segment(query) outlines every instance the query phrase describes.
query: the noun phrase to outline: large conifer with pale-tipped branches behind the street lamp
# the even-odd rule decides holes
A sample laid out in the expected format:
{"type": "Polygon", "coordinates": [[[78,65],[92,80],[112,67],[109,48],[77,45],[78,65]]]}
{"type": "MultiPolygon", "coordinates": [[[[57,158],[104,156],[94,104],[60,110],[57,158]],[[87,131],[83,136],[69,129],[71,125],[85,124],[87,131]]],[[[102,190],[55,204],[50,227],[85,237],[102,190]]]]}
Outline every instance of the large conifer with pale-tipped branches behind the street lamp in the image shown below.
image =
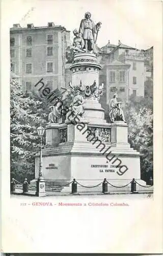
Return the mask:
{"type": "Polygon", "coordinates": [[[31,94],[24,94],[20,84],[10,82],[10,138],[11,177],[19,181],[29,180],[35,174],[35,153],[39,148],[37,127],[47,122],[43,102],[31,94]]]}

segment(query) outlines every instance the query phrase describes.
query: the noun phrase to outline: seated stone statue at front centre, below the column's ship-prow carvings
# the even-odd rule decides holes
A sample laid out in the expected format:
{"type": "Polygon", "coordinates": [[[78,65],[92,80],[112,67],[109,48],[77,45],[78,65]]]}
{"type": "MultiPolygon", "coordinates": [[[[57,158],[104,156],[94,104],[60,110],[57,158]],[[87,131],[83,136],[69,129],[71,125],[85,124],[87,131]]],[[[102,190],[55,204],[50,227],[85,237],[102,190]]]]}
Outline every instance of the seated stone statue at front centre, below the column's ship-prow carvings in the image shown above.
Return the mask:
{"type": "Polygon", "coordinates": [[[74,96],[73,102],[70,105],[73,116],[82,116],[84,114],[83,104],[84,104],[83,96],[80,95],[80,91],[77,90],[76,96],[74,96]]]}

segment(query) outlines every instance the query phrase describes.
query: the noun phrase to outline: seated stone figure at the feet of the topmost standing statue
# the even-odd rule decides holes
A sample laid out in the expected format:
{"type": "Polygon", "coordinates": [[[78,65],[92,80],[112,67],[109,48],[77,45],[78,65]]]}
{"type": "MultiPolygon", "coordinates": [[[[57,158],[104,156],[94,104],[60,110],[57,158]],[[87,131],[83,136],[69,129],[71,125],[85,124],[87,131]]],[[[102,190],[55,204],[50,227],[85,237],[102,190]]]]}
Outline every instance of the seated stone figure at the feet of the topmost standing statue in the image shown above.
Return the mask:
{"type": "Polygon", "coordinates": [[[73,52],[78,53],[78,52],[85,52],[86,50],[83,49],[85,45],[85,41],[82,37],[82,33],[78,33],[76,29],[73,31],[74,38],[73,38],[73,52]]]}

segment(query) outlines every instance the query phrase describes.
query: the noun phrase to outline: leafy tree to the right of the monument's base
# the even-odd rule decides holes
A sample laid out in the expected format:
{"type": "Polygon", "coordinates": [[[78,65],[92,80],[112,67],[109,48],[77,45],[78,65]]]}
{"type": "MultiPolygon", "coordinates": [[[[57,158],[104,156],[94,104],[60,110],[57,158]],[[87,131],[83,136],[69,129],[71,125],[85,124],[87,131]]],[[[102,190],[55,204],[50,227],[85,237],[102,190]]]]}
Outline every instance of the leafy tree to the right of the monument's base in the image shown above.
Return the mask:
{"type": "Polygon", "coordinates": [[[146,107],[127,111],[128,140],[141,156],[141,179],[153,178],[153,114],[146,107]]]}

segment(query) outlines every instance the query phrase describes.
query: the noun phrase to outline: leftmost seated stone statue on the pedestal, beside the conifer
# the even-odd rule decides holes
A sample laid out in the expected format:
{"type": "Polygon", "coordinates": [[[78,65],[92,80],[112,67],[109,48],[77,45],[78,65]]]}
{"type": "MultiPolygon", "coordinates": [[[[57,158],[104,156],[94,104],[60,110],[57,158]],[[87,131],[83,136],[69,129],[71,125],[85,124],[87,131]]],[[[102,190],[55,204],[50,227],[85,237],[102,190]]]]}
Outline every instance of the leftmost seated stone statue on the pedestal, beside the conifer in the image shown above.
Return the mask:
{"type": "Polygon", "coordinates": [[[51,111],[48,115],[49,123],[62,123],[62,102],[59,98],[58,100],[56,105],[49,107],[51,111]]]}

